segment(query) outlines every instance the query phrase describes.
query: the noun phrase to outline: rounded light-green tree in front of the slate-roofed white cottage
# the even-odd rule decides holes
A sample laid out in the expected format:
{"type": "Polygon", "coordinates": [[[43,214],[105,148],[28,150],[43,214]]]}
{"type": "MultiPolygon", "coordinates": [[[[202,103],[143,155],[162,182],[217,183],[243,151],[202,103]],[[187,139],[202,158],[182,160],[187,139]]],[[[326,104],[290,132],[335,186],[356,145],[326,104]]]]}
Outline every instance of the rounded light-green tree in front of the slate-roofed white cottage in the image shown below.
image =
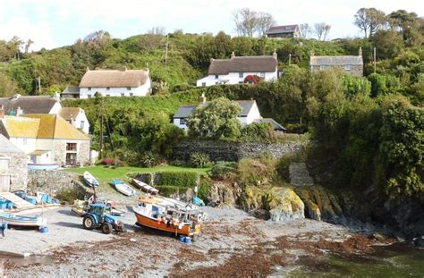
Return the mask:
{"type": "Polygon", "coordinates": [[[187,120],[189,134],[212,139],[237,138],[242,130],[237,118],[241,112],[240,105],[225,97],[199,105],[187,120]]]}

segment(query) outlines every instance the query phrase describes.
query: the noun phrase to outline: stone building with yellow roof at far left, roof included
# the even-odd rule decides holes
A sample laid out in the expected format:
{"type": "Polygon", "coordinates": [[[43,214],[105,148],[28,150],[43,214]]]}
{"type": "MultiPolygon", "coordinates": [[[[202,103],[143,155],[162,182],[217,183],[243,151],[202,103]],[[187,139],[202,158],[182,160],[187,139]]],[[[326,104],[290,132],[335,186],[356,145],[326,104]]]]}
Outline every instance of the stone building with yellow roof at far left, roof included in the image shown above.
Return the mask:
{"type": "Polygon", "coordinates": [[[30,169],[89,164],[90,139],[56,114],[0,117],[0,133],[28,156],[30,169]]]}

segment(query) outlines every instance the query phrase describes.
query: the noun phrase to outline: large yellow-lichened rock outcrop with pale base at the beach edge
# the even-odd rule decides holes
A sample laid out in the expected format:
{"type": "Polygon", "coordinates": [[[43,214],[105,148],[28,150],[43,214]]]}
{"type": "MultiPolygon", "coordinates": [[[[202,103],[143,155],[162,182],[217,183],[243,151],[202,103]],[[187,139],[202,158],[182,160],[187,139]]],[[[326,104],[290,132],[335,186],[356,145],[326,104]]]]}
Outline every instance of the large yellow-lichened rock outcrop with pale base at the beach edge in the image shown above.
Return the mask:
{"type": "Polygon", "coordinates": [[[244,192],[242,203],[247,211],[266,209],[275,222],[305,218],[305,206],[290,188],[250,186],[244,192]]]}

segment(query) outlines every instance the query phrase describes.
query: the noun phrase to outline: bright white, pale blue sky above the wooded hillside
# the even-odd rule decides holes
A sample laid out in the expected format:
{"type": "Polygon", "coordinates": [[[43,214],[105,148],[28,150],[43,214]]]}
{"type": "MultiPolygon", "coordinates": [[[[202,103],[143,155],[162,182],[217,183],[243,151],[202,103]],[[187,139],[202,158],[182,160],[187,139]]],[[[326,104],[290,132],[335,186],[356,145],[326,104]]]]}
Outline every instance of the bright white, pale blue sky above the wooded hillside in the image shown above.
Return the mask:
{"type": "Polygon", "coordinates": [[[96,30],[128,38],[153,27],[186,33],[220,30],[236,35],[233,11],[249,7],[271,13],[279,25],[326,22],[329,39],[361,36],[353,15],[361,7],[385,13],[403,9],[423,15],[422,0],[0,0],[0,39],[14,35],[35,43],[31,50],[72,45],[96,30]]]}

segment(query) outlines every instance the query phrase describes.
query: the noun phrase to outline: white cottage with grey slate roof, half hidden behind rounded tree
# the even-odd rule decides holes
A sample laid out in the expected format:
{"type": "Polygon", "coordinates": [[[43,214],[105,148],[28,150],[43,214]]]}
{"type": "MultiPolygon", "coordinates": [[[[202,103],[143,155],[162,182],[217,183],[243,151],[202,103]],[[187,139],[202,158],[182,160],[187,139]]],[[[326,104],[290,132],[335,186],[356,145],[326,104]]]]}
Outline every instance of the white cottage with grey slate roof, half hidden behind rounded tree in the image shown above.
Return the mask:
{"type": "MultiPolygon", "coordinates": [[[[258,105],[256,104],[256,100],[233,100],[234,103],[240,105],[242,107],[242,112],[238,115],[239,121],[242,123],[242,126],[246,126],[252,122],[268,122],[274,126],[274,130],[276,131],[286,131],[283,126],[281,126],[278,122],[274,121],[270,118],[262,118],[259,112],[258,105]]],[[[208,105],[206,102],[206,97],[202,96],[199,105],[208,105]]],[[[173,123],[180,129],[184,131],[188,131],[187,127],[187,119],[190,117],[191,113],[199,105],[184,105],[181,106],[178,111],[174,114],[173,123]]]]}

